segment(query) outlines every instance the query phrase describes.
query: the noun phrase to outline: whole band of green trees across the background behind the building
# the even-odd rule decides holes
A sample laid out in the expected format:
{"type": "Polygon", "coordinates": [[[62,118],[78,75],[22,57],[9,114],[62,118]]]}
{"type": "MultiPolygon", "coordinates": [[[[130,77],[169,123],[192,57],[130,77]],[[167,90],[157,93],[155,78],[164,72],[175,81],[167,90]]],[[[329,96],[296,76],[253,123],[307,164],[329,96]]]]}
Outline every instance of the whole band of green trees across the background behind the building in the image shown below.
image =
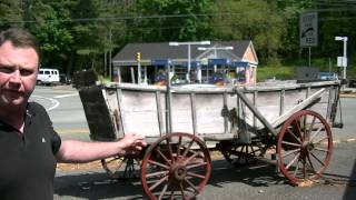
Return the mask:
{"type": "Polygon", "coordinates": [[[102,74],[108,58],[129,42],[253,40],[265,66],[258,74],[281,79],[308,66],[308,49],[299,47],[299,14],[310,10],[319,17],[312,66],[327,70],[330,58],[332,69],[340,71],[335,62],[343,42],[334,37],[347,36],[347,74],[356,78],[356,3],[346,0],[1,0],[0,29],[24,27],[36,34],[42,64],[67,72],[96,68],[102,74]]]}

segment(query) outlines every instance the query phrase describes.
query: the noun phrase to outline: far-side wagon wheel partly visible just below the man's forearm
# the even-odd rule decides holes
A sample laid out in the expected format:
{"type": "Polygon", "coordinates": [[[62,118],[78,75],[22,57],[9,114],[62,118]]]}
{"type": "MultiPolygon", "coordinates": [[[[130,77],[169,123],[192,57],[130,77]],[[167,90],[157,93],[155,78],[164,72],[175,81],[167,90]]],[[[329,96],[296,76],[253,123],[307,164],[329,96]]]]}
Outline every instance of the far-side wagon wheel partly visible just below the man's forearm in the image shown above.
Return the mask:
{"type": "Polygon", "coordinates": [[[137,171],[139,170],[140,160],[138,158],[112,157],[102,159],[101,164],[107,174],[112,179],[139,178],[137,171]]]}

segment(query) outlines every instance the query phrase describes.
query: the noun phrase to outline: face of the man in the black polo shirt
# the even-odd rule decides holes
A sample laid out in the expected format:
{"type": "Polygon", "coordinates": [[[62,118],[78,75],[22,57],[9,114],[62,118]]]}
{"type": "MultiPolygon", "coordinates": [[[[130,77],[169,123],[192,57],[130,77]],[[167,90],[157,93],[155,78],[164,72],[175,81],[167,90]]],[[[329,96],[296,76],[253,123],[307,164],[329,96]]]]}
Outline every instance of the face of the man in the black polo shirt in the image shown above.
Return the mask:
{"type": "Polygon", "coordinates": [[[10,41],[0,47],[0,109],[24,108],[36,86],[38,62],[32,48],[16,48],[10,41]]]}

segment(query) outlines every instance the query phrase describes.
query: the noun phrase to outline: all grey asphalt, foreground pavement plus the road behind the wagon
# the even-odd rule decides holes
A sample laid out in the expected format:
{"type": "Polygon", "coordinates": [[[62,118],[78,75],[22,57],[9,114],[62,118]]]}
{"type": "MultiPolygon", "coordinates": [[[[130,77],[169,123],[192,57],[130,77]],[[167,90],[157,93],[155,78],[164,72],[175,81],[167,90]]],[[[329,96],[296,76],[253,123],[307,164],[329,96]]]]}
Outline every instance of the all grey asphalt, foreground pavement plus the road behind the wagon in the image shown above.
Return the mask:
{"type": "MultiPolygon", "coordinates": [[[[38,87],[32,100],[49,110],[55,129],[63,139],[89,140],[76,90],[38,87]]],[[[345,127],[333,129],[334,154],[319,183],[310,188],[296,188],[285,182],[274,164],[260,161],[250,168],[236,169],[225,160],[215,160],[211,178],[197,199],[356,199],[356,99],[343,98],[342,108],[345,127]]],[[[139,180],[111,180],[102,169],[58,171],[55,193],[56,200],[145,199],[139,180]]]]}

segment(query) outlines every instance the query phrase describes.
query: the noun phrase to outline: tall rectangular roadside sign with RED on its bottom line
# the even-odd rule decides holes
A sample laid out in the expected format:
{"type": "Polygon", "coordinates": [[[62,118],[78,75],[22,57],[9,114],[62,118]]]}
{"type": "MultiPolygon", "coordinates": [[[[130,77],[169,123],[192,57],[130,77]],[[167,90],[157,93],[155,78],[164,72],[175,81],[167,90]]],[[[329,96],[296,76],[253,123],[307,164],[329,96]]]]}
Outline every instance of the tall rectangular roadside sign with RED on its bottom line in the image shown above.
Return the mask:
{"type": "Polygon", "coordinates": [[[318,46],[318,13],[305,12],[299,18],[300,47],[318,46]]]}

